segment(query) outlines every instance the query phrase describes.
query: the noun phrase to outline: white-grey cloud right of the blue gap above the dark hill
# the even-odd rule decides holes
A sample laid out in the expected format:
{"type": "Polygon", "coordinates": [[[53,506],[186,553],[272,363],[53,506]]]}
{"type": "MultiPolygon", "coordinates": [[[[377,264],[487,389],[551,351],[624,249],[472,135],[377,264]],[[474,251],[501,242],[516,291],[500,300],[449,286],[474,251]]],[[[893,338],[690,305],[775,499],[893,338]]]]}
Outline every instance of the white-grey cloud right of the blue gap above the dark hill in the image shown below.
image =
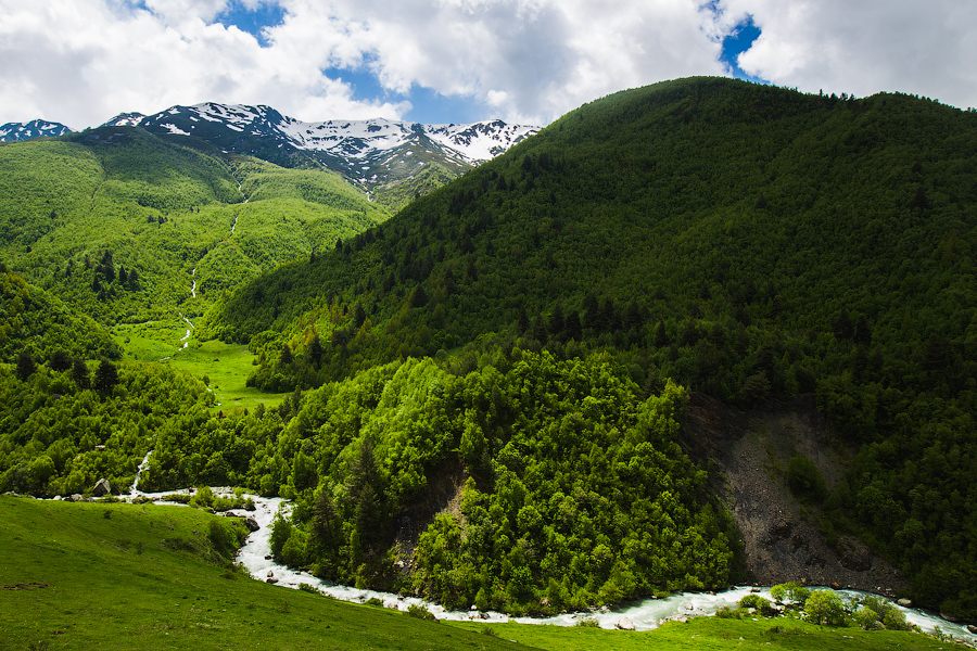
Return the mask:
{"type": "Polygon", "coordinates": [[[977,105],[977,3],[957,0],[723,0],[762,29],[739,58],[750,74],[800,90],[902,91],[977,105]]]}

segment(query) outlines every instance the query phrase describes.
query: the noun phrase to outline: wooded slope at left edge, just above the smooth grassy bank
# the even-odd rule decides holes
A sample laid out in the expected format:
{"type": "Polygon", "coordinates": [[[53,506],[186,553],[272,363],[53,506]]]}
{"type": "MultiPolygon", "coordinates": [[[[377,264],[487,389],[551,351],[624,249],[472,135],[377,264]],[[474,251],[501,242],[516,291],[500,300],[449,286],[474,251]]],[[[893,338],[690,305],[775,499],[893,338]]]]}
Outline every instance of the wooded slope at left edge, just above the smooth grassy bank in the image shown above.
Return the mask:
{"type": "Polygon", "coordinates": [[[0,493],[88,494],[103,477],[127,492],[156,432],[214,403],[187,373],[59,352],[29,373],[0,367],[0,493]]]}

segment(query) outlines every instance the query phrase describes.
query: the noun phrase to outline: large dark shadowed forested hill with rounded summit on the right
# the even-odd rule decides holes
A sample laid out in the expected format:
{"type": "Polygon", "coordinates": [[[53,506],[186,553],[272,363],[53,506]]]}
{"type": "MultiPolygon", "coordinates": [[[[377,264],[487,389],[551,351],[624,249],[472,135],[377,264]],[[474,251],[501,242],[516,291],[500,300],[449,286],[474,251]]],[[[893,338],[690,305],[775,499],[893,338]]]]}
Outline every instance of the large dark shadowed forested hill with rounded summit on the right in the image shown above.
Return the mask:
{"type": "Polygon", "coordinates": [[[918,599],[977,615],[977,115],[718,78],[582,106],[211,315],[314,386],[406,356],[605,349],[750,406],[816,393],[859,449],[819,498],[918,599]]]}

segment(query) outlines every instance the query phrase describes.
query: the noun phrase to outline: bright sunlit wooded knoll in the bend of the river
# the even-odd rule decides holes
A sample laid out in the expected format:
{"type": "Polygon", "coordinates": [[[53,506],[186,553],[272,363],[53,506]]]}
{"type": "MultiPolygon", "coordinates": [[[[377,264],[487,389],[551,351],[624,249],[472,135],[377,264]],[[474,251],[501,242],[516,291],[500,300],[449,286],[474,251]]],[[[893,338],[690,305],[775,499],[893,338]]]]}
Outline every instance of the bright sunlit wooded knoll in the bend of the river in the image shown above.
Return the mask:
{"type": "Polygon", "coordinates": [[[452,607],[557,612],[728,585],[731,522],[675,441],[683,392],[644,396],[600,356],[509,355],[467,374],[392,362],[274,410],[185,410],[156,429],[141,485],[294,498],[280,561],[452,607]],[[460,521],[426,509],[434,488],[460,521]]]}

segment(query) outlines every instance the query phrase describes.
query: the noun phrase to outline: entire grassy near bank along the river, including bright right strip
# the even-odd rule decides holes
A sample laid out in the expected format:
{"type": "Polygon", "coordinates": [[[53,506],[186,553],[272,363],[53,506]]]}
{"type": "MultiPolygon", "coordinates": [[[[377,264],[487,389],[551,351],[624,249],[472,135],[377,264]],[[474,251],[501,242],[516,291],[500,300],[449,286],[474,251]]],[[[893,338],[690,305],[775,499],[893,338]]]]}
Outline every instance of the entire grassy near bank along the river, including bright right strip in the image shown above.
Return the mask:
{"type": "MultiPolygon", "coordinates": [[[[432,623],[271,586],[218,556],[227,519],[0,496],[0,649],[953,649],[915,633],[693,618],[645,633],[432,623]]],[[[227,554],[229,556],[229,554],[227,554]]]]}

